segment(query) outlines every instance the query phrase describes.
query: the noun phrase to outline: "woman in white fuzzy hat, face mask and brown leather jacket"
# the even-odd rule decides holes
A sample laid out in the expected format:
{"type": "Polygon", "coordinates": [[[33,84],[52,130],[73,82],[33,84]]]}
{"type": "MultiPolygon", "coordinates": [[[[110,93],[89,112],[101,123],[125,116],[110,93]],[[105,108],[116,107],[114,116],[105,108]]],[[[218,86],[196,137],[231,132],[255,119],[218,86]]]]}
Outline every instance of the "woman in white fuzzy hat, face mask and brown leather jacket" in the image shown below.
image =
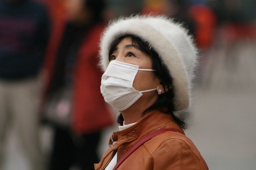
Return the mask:
{"type": "Polygon", "coordinates": [[[120,131],[95,169],[208,169],[177,115],[189,110],[197,63],[187,31],[163,16],[120,18],[100,47],[101,92],[120,131]]]}

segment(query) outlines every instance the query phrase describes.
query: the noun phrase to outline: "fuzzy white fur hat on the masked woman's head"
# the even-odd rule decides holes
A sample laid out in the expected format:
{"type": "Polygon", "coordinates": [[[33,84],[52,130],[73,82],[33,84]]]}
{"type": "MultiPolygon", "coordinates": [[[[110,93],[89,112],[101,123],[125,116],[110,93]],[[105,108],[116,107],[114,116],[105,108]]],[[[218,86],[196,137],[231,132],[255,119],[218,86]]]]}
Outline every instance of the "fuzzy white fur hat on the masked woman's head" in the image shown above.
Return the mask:
{"type": "Polygon", "coordinates": [[[100,42],[100,66],[109,64],[109,48],[116,38],[132,34],[147,41],[159,54],[173,78],[175,111],[187,110],[197,64],[197,48],[187,30],[164,16],[132,16],[112,21],[100,42]]]}

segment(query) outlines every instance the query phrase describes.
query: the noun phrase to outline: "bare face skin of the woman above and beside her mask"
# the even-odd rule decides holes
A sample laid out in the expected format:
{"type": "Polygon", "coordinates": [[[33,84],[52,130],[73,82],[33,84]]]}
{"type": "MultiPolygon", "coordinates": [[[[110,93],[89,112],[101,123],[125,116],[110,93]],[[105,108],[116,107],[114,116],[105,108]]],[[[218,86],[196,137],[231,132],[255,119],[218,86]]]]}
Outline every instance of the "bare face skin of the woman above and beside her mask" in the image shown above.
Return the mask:
{"type": "MultiPolygon", "coordinates": [[[[139,66],[140,69],[152,69],[151,57],[134,47],[130,37],[126,37],[120,41],[110,55],[110,60],[134,64],[139,66]]],[[[150,90],[156,88],[159,82],[159,79],[155,77],[153,71],[139,70],[134,79],[133,87],[138,91],[150,90]]],[[[157,91],[143,93],[143,96],[150,94],[157,94],[157,91]]]]}

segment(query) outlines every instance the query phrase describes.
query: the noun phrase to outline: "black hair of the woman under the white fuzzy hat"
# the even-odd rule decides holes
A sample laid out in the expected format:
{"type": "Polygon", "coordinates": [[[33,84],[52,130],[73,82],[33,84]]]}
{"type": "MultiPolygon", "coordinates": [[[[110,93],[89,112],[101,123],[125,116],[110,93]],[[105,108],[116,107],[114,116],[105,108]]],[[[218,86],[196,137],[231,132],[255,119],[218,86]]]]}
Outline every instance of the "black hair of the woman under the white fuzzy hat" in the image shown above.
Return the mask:
{"type": "MultiPolygon", "coordinates": [[[[111,57],[111,54],[113,53],[115,47],[119,44],[121,40],[123,40],[126,37],[130,37],[132,39],[133,45],[138,48],[139,50],[145,52],[146,54],[151,56],[152,59],[152,69],[156,70],[154,71],[154,74],[157,78],[160,79],[160,84],[163,86],[165,93],[162,93],[158,96],[158,99],[151,105],[150,107],[146,108],[146,110],[143,112],[143,115],[146,115],[150,111],[153,110],[159,110],[162,113],[171,115],[172,119],[182,128],[186,129],[187,125],[184,122],[183,118],[178,118],[176,115],[174,115],[173,111],[175,110],[175,106],[173,103],[174,99],[174,88],[172,88],[172,82],[173,79],[170,76],[169,70],[167,69],[167,66],[163,63],[158,53],[150,46],[150,44],[141,38],[126,34],[123,36],[118,37],[112,43],[110,44],[110,50],[109,50],[109,60],[111,57]]],[[[122,124],[124,121],[122,114],[118,116],[117,122],[122,124]]]]}

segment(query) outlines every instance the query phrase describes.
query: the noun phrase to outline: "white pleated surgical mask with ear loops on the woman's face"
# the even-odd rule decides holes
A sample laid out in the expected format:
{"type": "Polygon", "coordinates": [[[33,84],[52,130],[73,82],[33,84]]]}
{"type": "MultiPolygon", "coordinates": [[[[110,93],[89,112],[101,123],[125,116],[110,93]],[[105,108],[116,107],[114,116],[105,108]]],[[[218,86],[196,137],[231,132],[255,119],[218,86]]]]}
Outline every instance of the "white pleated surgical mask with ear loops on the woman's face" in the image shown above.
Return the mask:
{"type": "Polygon", "coordinates": [[[139,66],[129,63],[111,61],[101,78],[101,93],[104,100],[122,111],[135,103],[143,95],[143,92],[156,90],[137,91],[133,88],[133,81],[138,70],[155,71],[139,69],[139,66]]]}

